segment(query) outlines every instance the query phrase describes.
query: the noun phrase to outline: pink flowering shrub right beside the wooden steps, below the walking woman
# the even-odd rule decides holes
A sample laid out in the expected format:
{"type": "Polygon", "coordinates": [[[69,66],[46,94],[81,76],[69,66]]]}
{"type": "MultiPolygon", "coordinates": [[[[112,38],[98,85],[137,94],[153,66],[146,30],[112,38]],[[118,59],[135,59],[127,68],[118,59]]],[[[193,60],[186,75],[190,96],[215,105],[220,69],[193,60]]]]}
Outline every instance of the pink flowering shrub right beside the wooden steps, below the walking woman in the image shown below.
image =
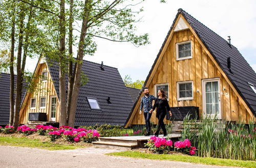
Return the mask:
{"type": "Polygon", "coordinates": [[[173,148],[173,142],[170,139],[166,141],[164,137],[160,138],[154,135],[148,139],[145,147],[154,153],[167,153],[173,148]]]}

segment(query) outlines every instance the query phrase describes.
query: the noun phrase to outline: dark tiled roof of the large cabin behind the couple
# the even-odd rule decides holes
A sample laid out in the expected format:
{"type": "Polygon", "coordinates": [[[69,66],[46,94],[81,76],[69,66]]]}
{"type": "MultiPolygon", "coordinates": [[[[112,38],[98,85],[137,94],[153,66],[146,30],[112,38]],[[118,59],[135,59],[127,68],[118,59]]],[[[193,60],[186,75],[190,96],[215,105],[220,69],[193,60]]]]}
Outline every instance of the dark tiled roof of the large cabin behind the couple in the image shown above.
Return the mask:
{"type": "MultiPolygon", "coordinates": [[[[150,77],[150,74],[156,65],[156,62],[159,58],[159,55],[163,49],[163,46],[170,35],[170,32],[173,29],[173,26],[179,16],[179,14],[182,14],[184,18],[187,20],[187,22],[190,24],[192,29],[196,32],[200,40],[203,42],[205,47],[209,50],[212,57],[216,60],[216,62],[219,64],[221,69],[224,71],[224,73],[227,75],[233,86],[237,89],[240,96],[243,98],[243,100],[246,102],[248,107],[251,109],[252,113],[256,117],[256,94],[254,91],[250,88],[248,82],[252,83],[254,87],[256,87],[256,73],[253,71],[253,69],[250,67],[250,65],[247,63],[247,61],[244,59],[242,54],[238,51],[236,47],[233,45],[229,45],[229,43],[217,35],[214,31],[210,30],[208,27],[206,27],[204,24],[199,22],[197,19],[195,19],[193,16],[189,15],[187,12],[185,12],[182,9],[178,10],[178,13],[173,21],[172,26],[170,27],[167,36],[164,39],[164,42],[162,44],[162,47],[160,48],[157,58],[152,65],[152,68],[150,70],[150,73],[148,73],[147,78],[144,82],[144,85],[146,84],[148,78],[150,77]],[[227,68],[227,58],[230,57],[231,60],[231,71],[227,68]]],[[[143,86],[142,88],[144,88],[143,86]]],[[[142,93],[142,89],[140,90],[139,95],[142,93]]],[[[132,111],[135,108],[136,102],[139,99],[139,95],[132,107],[132,111]]],[[[132,111],[129,115],[132,115],[132,111]]],[[[129,120],[127,119],[127,121],[129,120]]],[[[127,122],[126,121],[126,122],[127,122]]]]}

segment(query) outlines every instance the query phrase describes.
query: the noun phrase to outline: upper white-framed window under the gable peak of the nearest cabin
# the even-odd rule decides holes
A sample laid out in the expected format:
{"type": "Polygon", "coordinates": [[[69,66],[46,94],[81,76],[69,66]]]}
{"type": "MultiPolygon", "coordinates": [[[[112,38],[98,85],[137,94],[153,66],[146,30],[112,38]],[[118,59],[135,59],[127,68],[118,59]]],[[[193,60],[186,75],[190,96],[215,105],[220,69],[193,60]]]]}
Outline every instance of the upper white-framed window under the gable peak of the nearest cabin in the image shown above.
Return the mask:
{"type": "Polygon", "coordinates": [[[176,44],[176,60],[185,60],[192,58],[191,41],[176,44]]]}

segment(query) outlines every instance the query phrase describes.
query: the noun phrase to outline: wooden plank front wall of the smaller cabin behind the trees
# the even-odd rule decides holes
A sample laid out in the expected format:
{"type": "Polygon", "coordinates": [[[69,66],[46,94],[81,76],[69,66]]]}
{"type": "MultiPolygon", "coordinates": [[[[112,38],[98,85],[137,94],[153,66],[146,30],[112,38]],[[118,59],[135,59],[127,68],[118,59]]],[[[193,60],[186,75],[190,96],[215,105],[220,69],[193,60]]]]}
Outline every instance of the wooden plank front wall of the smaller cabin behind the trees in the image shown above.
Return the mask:
{"type": "MultiPolygon", "coordinates": [[[[49,70],[47,68],[47,65],[39,64],[39,69],[36,71],[36,74],[41,75],[42,71],[48,71],[47,78],[48,80],[46,82],[40,82],[39,78],[36,78],[35,82],[37,83],[37,90],[34,93],[27,93],[24,104],[24,108],[20,111],[21,117],[20,117],[20,123],[26,124],[28,123],[28,115],[29,113],[46,113],[47,114],[47,121],[49,121],[50,118],[50,97],[51,96],[57,96],[56,91],[54,89],[54,85],[49,73],[49,70]],[[28,97],[27,97],[28,96],[28,97]],[[45,96],[46,97],[46,108],[40,109],[40,97],[45,96]],[[31,98],[36,98],[36,108],[30,109],[30,101],[31,98]]],[[[56,107],[56,122],[59,122],[59,103],[57,98],[57,107],[56,107]]]]}

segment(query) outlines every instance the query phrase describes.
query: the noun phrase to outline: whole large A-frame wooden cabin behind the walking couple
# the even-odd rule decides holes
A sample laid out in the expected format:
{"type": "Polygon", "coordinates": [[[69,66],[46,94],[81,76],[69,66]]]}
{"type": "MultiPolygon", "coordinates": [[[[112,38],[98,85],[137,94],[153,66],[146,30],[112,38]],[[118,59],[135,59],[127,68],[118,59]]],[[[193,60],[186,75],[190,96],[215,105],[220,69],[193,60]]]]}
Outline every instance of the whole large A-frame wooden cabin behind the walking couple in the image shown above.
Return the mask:
{"type": "MultiPolygon", "coordinates": [[[[254,122],[256,74],[236,47],[179,9],[144,87],[168,95],[170,107],[197,106],[199,116],[254,122]]],[[[142,90],[127,126],[144,124],[139,115],[142,90]]],[[[155,111],[151,121],[157,123],[155,111]]],[[[166,122],[166,120],[165,120],[166,122]]]]}

